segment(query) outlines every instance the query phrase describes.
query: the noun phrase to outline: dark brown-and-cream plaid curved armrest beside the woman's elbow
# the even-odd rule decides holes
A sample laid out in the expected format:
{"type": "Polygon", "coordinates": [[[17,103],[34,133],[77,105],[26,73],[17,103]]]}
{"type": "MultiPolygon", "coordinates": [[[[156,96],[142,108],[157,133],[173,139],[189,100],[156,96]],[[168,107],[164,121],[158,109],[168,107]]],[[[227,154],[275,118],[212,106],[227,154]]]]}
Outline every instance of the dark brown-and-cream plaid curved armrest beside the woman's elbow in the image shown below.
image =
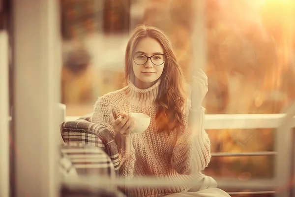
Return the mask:
{"type": "Polygon", "coordinates": [[[90,122],[90,117],[81,117],[75,121],[65,121],[60,124],[63,141],[81,143],[101,148],[108,154],[118,173],[118,147],[113,135],[107,129],[90,122]]]}

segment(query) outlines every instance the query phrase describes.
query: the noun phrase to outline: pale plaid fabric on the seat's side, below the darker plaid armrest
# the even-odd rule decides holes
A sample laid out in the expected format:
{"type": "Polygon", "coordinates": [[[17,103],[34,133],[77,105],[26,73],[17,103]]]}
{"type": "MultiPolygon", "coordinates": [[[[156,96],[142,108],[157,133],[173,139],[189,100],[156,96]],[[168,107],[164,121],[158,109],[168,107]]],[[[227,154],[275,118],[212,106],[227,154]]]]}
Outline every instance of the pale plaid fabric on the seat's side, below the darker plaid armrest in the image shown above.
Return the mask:
{"type": "MultiPolygon", "coordinates": [[[[60,146],[61,160],[59,169],[63,177],[78,177],[79,175],[98,175],[116,178],[115,167],[110,157],[101,149],[87,144],[69,142],[60,146]]],[[[71,186],[63,182],[60,197],[125,197],[116,187],[91,188],[89,186],[71,186]]]]}

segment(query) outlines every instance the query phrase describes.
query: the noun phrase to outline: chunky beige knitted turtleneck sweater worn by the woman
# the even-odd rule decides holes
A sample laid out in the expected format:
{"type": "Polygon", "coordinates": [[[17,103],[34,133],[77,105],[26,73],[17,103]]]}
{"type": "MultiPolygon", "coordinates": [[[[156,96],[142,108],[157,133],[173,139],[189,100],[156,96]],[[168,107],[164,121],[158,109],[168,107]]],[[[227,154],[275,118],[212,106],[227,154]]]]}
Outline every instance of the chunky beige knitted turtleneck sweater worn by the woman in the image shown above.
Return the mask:
{"type": "MultiPolygon", "coordinates": [[[[188,127],[190,103],[184,110],[186,128],[170,134],[158,132],[155,120],[160,81],[148,89],[139,89],[131,82],[128,86],[100,97],[95,103],[92,122],[108,129],[115,137],[119,152],[119,175],[123,177],[156,176],[175,181],[191,180],[195,183],[204,178],[202,170],[210,161],[210,142],[203,129],[204,111],[194,111],[194,127],[188,127]],[[130,137],[117,134],[112,127],[121,112],[148,114],[150,125],[143,133],[130,137]],[[192,129],[189,128],[194,128],[192,129]]],[[[191,116],[190,116],[191,117],[191,116]]],[[[189,187],[133,188],[128,194],[136,197],[160,197],[188,191],[189,187]]]]}

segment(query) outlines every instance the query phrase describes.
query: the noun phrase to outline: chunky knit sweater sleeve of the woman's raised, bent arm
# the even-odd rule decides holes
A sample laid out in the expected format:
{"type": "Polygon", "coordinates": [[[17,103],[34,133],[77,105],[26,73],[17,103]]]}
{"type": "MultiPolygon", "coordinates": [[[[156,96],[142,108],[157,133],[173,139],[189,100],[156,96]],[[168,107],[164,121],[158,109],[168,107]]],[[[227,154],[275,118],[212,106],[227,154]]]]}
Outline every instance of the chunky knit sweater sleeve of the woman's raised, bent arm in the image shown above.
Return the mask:
{"type": "Polygon", "coordinates": [[[171,159],[179,174],[193,174],[204,170],[210,162],[210,140],[204,130],[205,108],[184,114],[185,128],[177,134],[177,143],[171,159]]]}

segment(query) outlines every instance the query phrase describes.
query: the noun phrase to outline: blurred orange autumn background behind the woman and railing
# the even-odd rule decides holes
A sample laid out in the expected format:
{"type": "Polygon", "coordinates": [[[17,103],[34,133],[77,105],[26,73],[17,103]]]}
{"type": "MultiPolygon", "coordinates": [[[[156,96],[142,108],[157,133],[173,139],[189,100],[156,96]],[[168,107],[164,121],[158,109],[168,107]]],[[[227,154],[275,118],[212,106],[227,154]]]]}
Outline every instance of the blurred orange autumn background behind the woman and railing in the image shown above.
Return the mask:
{"type": "MultiPolygon", "coordinates": [[[[8,9],[10,3],[3,2],[8,9]]],[[[167,33],[188,82],[194,69],[205,70],[207,114],[284,113],[295,100],[295,0],[196,2],[59,0],[61,66],[57,72],[66,116],[90,114],[99,96],[122,88],[125,47],[130,32],[140,23],[167,33]],[[198,39],[203,45],[195,42],[198,39]],[[204,57],[197,54],[200,50],[204,57]],[[198,57],[205,58],[204,64],[198,64],[198,57]]],[[[1,25],[8,32],[17,31],[12,23],[1,25]]],[[[9,34],[8,51],[12,37],[9,34]]],[[[17,95],[12,70],[9,66],[10,108],[17,95]]],[[[212,152],[274,151],[273,129],[207,132],[212,152]]],[[[213,157],[205,174],[237,180],[273,178],[274,157],[213,157]]]]}

